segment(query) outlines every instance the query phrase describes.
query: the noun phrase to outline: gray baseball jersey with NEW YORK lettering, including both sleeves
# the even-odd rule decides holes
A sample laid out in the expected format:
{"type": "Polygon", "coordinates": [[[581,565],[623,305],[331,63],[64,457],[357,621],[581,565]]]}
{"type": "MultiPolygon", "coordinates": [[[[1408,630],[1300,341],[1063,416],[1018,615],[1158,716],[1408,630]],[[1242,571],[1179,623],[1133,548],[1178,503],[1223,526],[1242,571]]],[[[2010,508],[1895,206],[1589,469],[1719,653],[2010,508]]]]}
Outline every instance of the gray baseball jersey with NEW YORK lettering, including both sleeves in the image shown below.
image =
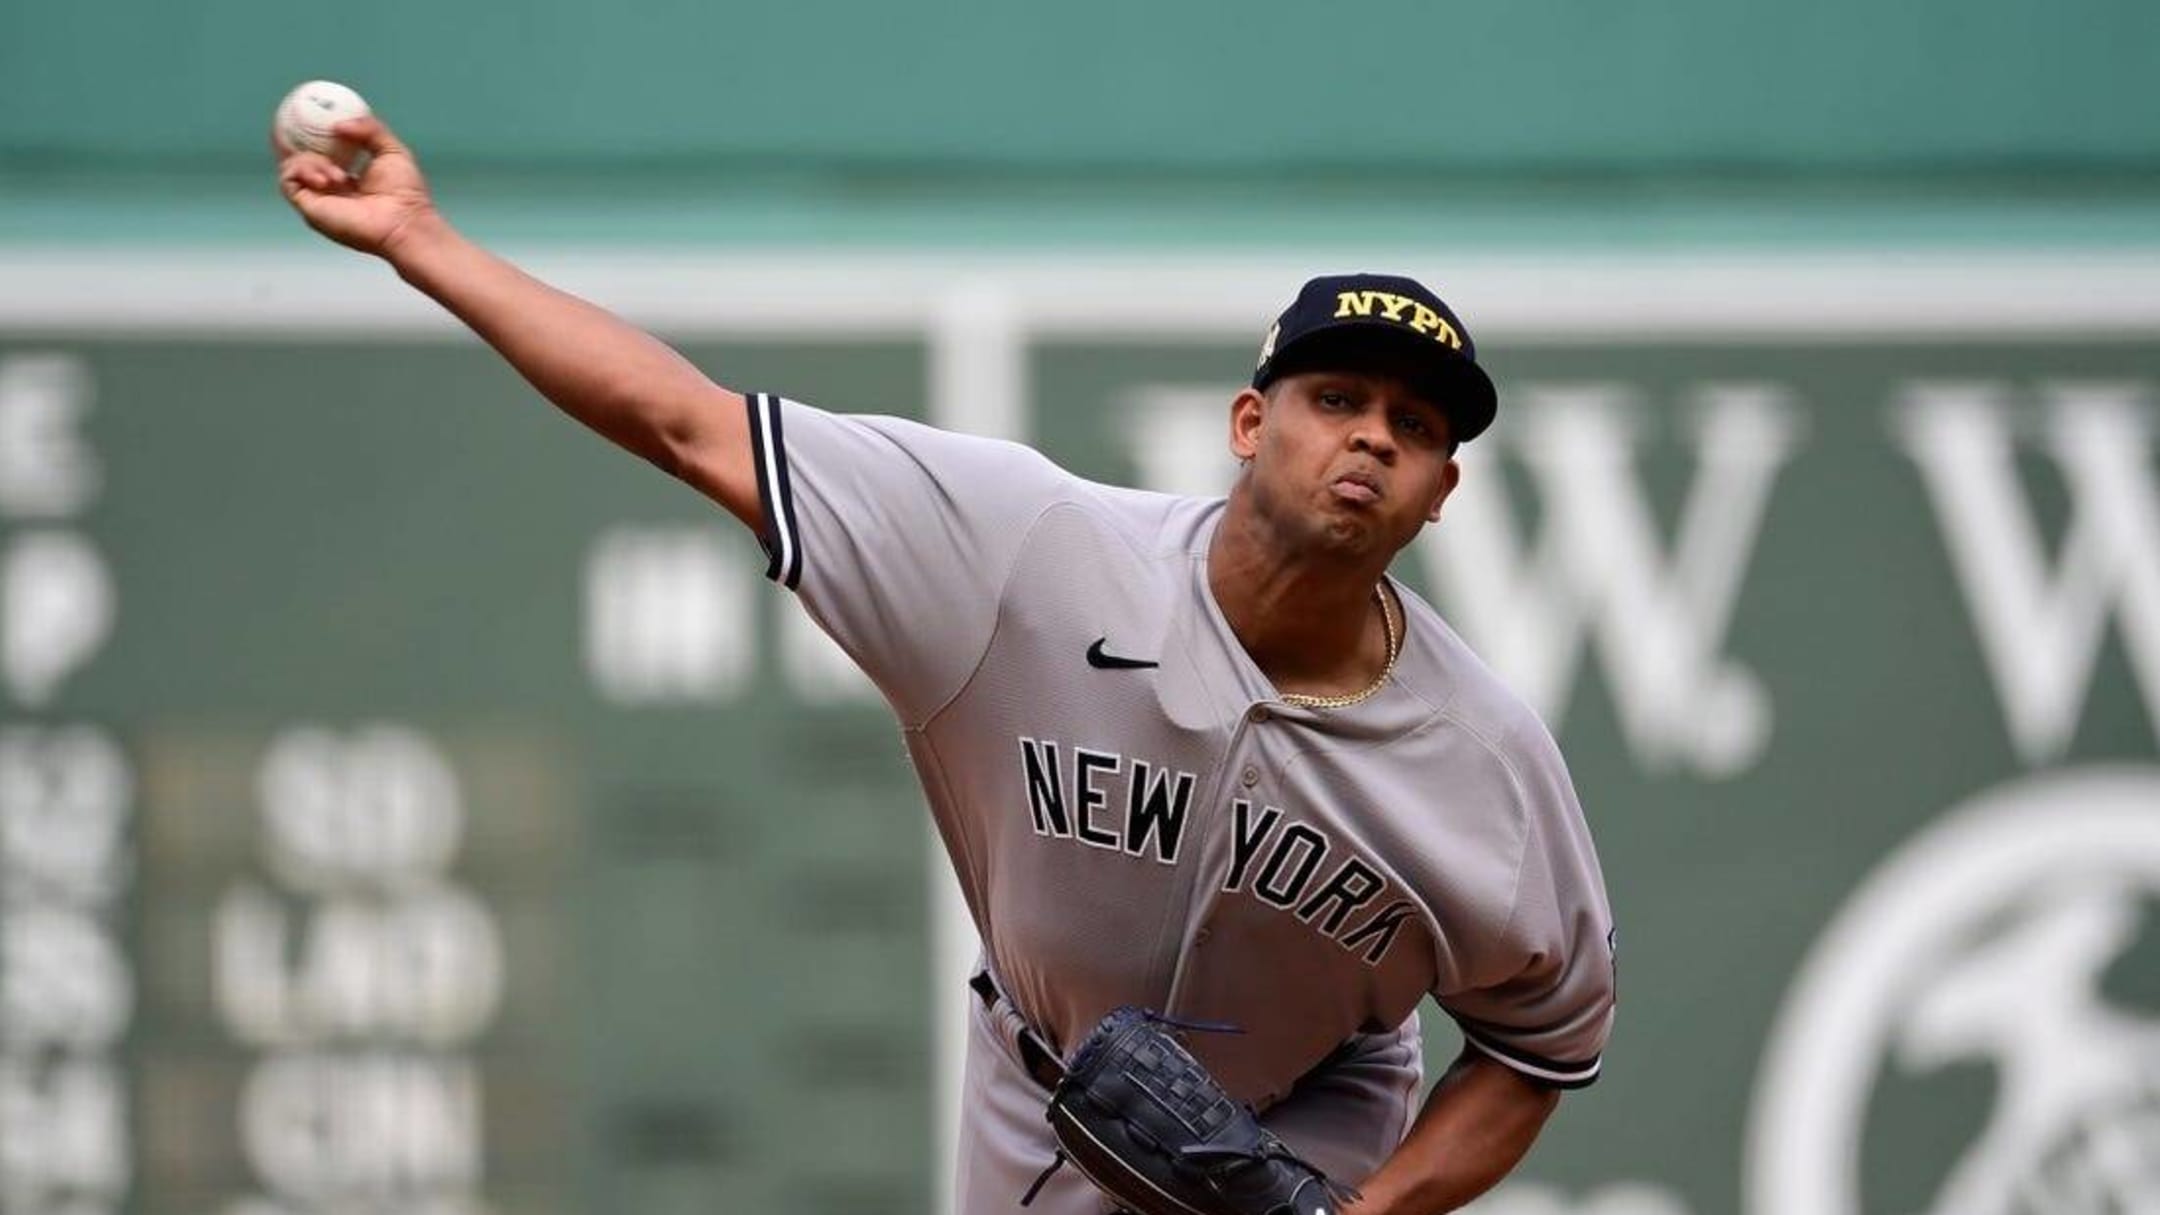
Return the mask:
{"type": "Polygon", "coordinates": [[[1566,765],[1419,597],[1395,588],[1378,694],[1292,707],[1207,586],[1223,499],[750,413],[767,573],[890,700],[989,973],[1052,1051],[1125,1003],[1227,1020],[1194,1053],[1266,1109],[1430,992],[1501,1064],[1596,1077],[1611,914],[1566,765]]]}

